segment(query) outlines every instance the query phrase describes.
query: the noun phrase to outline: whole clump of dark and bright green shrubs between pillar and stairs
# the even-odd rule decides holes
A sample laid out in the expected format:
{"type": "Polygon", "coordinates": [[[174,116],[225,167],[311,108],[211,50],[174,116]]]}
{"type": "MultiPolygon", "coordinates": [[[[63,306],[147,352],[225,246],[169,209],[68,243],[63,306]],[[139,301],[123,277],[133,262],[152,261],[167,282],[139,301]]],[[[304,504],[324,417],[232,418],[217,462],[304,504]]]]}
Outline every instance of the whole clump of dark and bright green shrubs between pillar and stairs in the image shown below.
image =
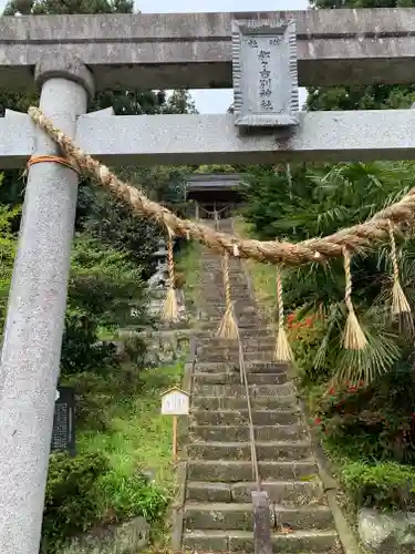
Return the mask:
{"type": "MultiPolygon", "coordinates": [[[[108,454],[108,453],[106,453],[108,454]]],[[[41,554],[52,554],[96,525],[143,516],[159,522],[168,497],[148,478],[111,466],[102,453],[52,454],[43,512],[41,554]]]]}

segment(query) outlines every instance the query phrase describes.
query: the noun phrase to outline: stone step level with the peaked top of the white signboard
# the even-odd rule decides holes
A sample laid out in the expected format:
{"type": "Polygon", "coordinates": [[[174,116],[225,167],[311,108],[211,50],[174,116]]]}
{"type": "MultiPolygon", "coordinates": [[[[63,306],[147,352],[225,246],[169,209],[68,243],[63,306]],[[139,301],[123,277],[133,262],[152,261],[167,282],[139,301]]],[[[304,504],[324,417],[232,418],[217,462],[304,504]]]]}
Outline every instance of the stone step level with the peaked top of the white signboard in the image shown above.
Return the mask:
{"type": "MultiPolygon", "coordinates": [[[[294,392],[292,382],[283,384],[250,384],[249,397],[286,397],[294,392]]],[[[193,397],[245,397],[245,384],[203,384],[196,382],[193,397]]]]}

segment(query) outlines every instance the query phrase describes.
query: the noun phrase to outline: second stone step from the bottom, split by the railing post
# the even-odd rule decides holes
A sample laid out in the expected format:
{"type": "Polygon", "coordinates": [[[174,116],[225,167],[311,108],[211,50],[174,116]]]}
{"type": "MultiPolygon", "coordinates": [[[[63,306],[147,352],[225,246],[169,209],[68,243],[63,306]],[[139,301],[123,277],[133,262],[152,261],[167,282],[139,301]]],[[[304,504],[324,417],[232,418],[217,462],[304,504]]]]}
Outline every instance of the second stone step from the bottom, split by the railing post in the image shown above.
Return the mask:
{"type": "MultiPolygon", "coordinates": [[[[284,524],[293,531],[325,531],[333,525],[332,513],[323,505],[272,506],[271,516],[273,516],[273,526],[284,524]]],[[[252,531],[252,503],[187,502],[184,510],[184,529],[252,531]]]]}

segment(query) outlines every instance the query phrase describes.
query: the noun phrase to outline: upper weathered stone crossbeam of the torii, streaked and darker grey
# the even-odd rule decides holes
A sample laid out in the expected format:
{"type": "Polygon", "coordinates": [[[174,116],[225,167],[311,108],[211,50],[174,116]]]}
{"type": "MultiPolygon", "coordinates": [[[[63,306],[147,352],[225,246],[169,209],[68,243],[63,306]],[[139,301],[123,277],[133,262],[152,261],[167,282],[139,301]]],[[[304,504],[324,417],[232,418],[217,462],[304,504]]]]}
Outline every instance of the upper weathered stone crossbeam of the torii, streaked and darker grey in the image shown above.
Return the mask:
{"type": "Polygon", "coordinates": [[[0,82],[33,86],[53,50],[79,55],[97,90],[231,88],[231,20],[294,18],[299,83],[413,83],[415,10],[0,18],[0,82]]]}

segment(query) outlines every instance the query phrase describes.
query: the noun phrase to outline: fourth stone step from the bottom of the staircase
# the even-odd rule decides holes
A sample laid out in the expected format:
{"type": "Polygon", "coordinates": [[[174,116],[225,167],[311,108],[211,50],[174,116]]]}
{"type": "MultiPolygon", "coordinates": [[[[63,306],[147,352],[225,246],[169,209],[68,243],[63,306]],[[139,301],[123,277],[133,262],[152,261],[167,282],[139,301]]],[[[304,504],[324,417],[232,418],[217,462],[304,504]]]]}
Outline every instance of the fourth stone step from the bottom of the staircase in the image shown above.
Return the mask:
{"type": "MultiPolygon", "coordinates": [[[[252,473],[250,461],[189,460],[187,476],[190,481],[238,483],[251,482],[252,473]]],[[[318,468],[314,460],[259,462],[259,473],[263,480],[311,481],[315,479],[318,468]]]]}

